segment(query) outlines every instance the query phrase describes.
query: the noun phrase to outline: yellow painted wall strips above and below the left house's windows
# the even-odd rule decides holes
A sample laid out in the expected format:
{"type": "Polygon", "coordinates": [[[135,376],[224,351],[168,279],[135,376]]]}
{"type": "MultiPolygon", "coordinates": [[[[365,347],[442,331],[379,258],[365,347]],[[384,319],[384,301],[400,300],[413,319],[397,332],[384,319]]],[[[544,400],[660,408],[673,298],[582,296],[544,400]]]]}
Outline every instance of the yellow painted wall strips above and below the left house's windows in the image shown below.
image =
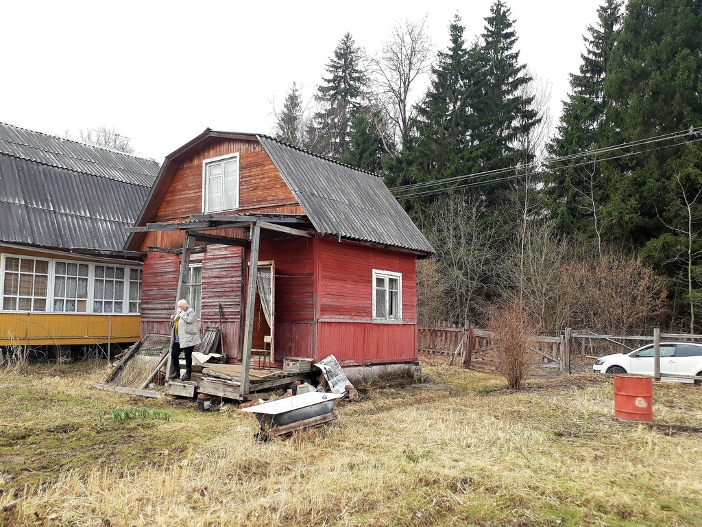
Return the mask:
{"type": "MultiPolygon", "coordinates": [[[[40,249],[0,247],[0,254],[58,258],[91,262],[90,257],[75,254],[55,254],[40,249]]],[[[101,263],[107,263],[105,259],[101,263]]],[[[125,261],[115,260],[108,265],[124,266],[125,261]]],[[[0,277],[0,280],[2,277],[0,277]]],[[[0,306],[2,304],[0,303],[0,306]]],[[[0,311],[0,346],[27,344],[28,346],[105,344],[110,342],[135,342],[139,336],[139,315],[102,315],[85,313],[17,313],[0,311]]]]}

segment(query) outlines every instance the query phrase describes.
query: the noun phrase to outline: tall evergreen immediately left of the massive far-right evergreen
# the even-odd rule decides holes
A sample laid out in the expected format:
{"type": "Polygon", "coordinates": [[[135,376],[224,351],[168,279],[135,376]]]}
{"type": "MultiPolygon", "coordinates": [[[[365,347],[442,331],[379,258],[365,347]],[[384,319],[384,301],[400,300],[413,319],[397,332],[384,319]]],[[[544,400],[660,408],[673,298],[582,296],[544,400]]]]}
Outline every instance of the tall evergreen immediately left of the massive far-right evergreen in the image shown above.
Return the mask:
{"type": "MultiPolygon", "coordinates": [[[[571,93],[564,102],[557,134],[548,145],[552,157],[574,155],[603,144],[604,75],[614,49],[621,22],[621,0],[607,0],[597,9],[597,25],[588,26],[583,36],[585,53],[581,53],[578,74],[570,75],[571,93]]],[[[556,228],[564,234],[584,233],[600,238],[602,225],[597,212],[604,196],[600,167],[581,164],[592,158],[575,157],[550,164],[545,174],[546,205],[556,228]],[[581,164],[567,168],[569,165],[581,164]]]]}

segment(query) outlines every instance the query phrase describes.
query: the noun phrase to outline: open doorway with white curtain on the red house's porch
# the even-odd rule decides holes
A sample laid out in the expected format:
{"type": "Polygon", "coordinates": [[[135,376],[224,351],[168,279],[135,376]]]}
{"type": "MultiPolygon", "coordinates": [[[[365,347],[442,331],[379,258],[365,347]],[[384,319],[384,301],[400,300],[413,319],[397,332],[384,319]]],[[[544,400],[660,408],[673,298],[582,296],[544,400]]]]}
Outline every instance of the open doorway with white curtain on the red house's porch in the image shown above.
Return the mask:
{"type": "Polygon", "coordinates": [[[251,349],[258,351],[253,359],[254,365],[264,365],[262,350],[267,352],[265,363],[270,364],[275,360],[275,272],[272,261],[258,262],[256,304],[253,310],[251,349]]]}

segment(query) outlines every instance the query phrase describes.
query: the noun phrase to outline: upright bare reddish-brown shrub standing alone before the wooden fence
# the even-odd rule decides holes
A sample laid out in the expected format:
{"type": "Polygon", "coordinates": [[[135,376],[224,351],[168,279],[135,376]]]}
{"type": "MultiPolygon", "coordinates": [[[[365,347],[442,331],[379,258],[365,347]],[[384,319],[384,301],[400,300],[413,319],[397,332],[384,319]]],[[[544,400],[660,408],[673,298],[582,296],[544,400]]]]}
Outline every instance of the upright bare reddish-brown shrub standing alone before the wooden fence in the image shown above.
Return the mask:
{"type": "Polygon", "coordinates": [[[538,321],[513,300],[497,308],[490,317],[498,370],[507,379],[510,389],[522,389],[527,380],[531,367],[529,341],[537,325],[538,321]]]}

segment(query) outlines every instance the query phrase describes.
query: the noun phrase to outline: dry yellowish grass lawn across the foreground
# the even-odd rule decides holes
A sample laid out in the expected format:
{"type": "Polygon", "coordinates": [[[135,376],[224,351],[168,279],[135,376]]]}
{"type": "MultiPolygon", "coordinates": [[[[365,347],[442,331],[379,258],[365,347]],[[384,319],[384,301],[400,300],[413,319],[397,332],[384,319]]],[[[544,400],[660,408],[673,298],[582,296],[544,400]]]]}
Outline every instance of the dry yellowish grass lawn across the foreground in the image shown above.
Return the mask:
{"type": "Polygon", "coordinates": [[[424,371],[435,388],[376,389],[267,444],[235,405],[91,389],[105,369],[2,372],[0,525],[702,525],[701,388],[655,384],[651,427],[614,419],[591,375],[515,392],[424,371]],[[114,422],[124,407],[171,418],[114,422]]]}

